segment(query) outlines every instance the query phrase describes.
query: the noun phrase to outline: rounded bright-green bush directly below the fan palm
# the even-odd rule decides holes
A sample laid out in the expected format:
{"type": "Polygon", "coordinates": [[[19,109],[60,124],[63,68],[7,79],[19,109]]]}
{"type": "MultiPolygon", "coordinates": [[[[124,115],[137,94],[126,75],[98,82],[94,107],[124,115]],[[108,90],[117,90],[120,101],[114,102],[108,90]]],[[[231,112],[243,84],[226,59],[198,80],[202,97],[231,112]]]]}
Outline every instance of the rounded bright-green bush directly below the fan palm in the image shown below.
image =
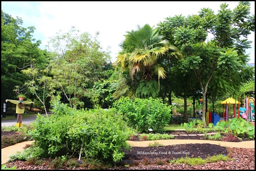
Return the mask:
{"type": "Polygon", "coordinates": [[[162,130],[171,118],[171,106],[152,97],[135,100],[122,97],[114,106],[125,117],[128,125],[139,132],[148,132],[148,129],[162,130]]]}

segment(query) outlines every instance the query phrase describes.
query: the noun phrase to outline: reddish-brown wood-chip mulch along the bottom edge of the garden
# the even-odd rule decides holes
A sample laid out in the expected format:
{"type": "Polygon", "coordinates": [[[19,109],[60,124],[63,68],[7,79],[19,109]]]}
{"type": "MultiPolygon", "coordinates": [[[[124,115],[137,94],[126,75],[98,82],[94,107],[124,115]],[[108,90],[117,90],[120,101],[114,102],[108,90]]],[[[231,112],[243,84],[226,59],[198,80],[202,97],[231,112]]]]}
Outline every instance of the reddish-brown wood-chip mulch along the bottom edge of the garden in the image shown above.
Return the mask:
{"type": "MultiPolygon", "coordinates": [[[[137,149],[136,149],[137,150],[137,149]]],[[[230,154],[233,155],[233,160],[229,161],[217,161],[213,163],[206,163],[204,165],[187,165],[187,164],[164,164],[164,163],[155,163],[155,162],[147,162],[148,160],[144,158],[140,162],[133,161],[133,165],[129,164],[129,167],[116,166],[112,168],[108,168],[110,170],[141,170],[141,169],[155,169],[155,170],[181,170],[181,169],[193,169],[193,170],[244,170],[244,169],[255,169],[255,149],[252,148],[229,148],[230,154]],[[143,164],[144,163],[144,164],[143,164]],[[160,165],[161,164],[161,165],[160,165]]],[[[138,155],[141,156],[141,155],[138,155]]],[[[151,159],[150,159],[151,161],[151,159]]],[[[49,161],[48,161],[49,163],[49,161]]],[[[21,170],[54,170],[47,165],[47,161],[42,165],[30,165],[26,164],[25,161],[14,161],[8,162],[7,167],[16,166],[17,169],[21,170]]],[[[82,170],[88,169],[87,167],[82,167],[82,165],[78,165],[77,167],[67,167],[63,166],[63,170],[82,170]]]]}

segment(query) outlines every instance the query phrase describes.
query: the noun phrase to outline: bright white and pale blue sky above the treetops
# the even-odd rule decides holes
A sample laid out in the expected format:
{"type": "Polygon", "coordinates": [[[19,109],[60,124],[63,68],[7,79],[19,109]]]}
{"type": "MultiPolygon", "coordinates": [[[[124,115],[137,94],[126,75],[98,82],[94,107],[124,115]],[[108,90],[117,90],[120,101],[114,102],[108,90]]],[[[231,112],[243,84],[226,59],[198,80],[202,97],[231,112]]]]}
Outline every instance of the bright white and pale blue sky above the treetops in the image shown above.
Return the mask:
{"type": "MultiPolygon", "coordinates": [[[[40,48],[46,48],[49,38],[62,30],[68,32],[72,26],[80,32],[89,32],[92,36],[99,32],[98,41],[103,50],[111,51],[115,61],[121,50],[120,43],[125,39],[126,31],[136,30],[137,26],[157,26],[166,17],[197,14],[203,7],[209,7],[215,13],[219,2],[1,2],[1,10],[16,18],[23,19],[23,27],[36,28],[33,38],[41,40],[40,48]]],[[[233,10],[238,2],[229,1],[233,10]]],[[[251,13],[255,14],[255,2],[251,1],[251,13]]],[[[255,33],[248,37],[253,41],[252,48],[246,52],[249,63],[255,63],[255,33]]]]}

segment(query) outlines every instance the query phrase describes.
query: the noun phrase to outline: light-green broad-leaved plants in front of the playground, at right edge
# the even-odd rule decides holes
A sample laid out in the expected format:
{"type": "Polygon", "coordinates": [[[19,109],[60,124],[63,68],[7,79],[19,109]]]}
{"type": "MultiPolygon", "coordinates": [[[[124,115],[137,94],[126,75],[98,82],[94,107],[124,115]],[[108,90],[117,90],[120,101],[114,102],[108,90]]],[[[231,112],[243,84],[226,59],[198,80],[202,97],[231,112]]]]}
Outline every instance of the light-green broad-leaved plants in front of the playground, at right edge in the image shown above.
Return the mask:
{"type": "Polygon", "coordinates": [[[218,122],[214,129],[219,132],[230,133],[233,136],[248,136],[250,139],[255,139],[255,127],[241,117],[218,122]]]}

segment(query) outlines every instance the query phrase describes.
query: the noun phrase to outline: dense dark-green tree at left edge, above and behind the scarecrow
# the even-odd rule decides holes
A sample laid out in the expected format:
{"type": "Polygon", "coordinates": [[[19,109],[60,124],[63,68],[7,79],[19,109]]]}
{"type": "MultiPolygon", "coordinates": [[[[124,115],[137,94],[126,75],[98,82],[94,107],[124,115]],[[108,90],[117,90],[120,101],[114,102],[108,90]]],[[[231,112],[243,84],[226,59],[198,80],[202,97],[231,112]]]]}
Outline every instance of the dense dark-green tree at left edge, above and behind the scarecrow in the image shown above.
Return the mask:
{"type": "Polygon", "coordinates": [[[1,101],[13,98],[15,86],[22,87],[27,81],[21,70],[30,66],[31,61],[41,67],[47,63],[38,48],[40,41],[33,39],[35,28],[24,28],[22,24],[19,17],[14,19],[1,11],[1,101]]]}

